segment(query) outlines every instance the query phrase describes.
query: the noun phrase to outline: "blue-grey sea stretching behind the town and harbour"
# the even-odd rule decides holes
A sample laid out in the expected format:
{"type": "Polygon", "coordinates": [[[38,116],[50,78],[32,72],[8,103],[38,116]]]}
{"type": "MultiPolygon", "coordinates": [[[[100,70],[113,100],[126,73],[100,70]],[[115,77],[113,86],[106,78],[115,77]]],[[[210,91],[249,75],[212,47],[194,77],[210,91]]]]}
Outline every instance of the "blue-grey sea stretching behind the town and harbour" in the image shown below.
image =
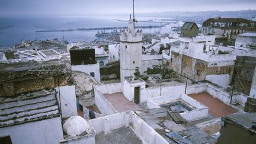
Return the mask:
{"type": "MultiPolygon", "coordinates": [[[[137,20],[156,20],[152,17],[137,17],[137,20]]],[[[159,18],[158,18],[159,19],[159,18]]],[[[67,30],[95,27],[124,27],[127,17],[104,15],[0,15],[0,47],[12,47],[21,40],[64,39],[69,43],[98,39],[98,30],[36,32],[41,30],[67,30]]],[[[136,23],[136,26],[160,25],[160,23],[136,23]]],[[[172,25],[162,28],[143,28],[143,33],[170,33],[172,25]]],[[[105,30],[111,32],[112,30],[105,30]]]]}

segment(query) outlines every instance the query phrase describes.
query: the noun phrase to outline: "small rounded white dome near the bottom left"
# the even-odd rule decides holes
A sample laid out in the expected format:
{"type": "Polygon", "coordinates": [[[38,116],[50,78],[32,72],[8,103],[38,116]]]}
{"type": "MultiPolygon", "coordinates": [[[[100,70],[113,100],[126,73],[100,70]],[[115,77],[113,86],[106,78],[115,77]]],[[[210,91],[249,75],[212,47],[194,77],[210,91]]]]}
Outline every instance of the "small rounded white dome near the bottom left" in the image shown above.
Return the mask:
{"type": "Polygon", "coordinates": [[[69,136],[76,136],[89,128],[87,121],[80,116],[69,117],[63,124],[64,132],[69,136]]]}

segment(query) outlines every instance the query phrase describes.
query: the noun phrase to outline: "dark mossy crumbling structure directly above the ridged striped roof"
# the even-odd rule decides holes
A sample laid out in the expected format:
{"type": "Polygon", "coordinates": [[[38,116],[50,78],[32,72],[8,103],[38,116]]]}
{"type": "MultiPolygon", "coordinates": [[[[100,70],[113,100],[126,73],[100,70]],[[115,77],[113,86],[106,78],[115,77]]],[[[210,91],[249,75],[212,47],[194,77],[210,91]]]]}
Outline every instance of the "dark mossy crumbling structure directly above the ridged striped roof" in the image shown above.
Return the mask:
{"type": "Polygon", "coordinates": [[[72,84],[65,64],[0,63],[0,67],[0,97],[56,88],[58,79],[60,86],[72,84]]]}

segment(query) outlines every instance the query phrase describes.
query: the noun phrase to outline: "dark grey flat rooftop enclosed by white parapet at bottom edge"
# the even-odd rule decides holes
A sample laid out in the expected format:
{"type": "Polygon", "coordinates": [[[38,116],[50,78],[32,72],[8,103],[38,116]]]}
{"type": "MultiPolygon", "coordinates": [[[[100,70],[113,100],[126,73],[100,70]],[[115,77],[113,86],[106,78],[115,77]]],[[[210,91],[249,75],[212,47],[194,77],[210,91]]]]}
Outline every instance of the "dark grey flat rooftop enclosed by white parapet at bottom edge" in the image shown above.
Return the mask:
{"type": "Polygon", "coordinates": [[[95,143],[104,144],[140,144],[142,141],[135,135],[129,127],[121,127],[119,129],[111,130],[111,133],[100,133],[95,136],[95,143]]]}

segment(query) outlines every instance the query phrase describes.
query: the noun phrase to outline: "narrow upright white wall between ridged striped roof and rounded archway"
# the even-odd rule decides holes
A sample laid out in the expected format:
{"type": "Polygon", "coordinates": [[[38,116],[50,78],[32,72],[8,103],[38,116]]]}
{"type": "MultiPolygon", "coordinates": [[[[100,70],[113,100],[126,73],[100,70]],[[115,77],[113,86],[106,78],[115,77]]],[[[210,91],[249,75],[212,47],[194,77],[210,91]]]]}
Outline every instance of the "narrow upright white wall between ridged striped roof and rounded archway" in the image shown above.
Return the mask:
{"type": "MultiPolygon", "coordinates": [[[[59,89],[55,89],[58,92],[57,100],[59,101],[59,89]]],[[[62,117],[68,118],[71,116],[77,116],[75,86],[67,85],[60,87],[60,101],[62,117]]]]}

